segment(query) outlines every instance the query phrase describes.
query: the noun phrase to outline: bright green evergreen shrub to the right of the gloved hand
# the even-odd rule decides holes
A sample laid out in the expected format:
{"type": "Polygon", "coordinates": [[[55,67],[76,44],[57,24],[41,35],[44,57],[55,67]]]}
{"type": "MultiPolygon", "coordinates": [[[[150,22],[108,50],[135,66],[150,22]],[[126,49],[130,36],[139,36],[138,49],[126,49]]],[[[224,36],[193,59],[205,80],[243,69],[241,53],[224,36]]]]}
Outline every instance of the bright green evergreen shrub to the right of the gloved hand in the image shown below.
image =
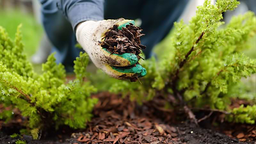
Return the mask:
{"type": "MultiPolygon", "coordinates": [[[[234,17],[223,25],[222,13],[234,10],[236,0],[218,0],[212,5],[206,0],[198,6],[189,24],[175,23],[166,56],[156,63],[154,58],[141,61],[147,76],[141,83],[120,81],[113,84],[112,92],[131,95],[139,102],[161,95],[184,99],[192,108],[225,110],[228,121],[255,124],[256,105],[231,109],[231,97],[245,93],[241,77],[256,72],[256,60],[243,54],[248,40],[256,34],[256,17],[252,12],[234,17]],[[170,50],[171,49],[171,50],[170,50]],[[237,88],[240,92],[237,93],[237,88]]],[[[253,100],[256,100],[254,95],[253,100]]],[[[167,100],[166,100],[167,101],[167,100]]]]}

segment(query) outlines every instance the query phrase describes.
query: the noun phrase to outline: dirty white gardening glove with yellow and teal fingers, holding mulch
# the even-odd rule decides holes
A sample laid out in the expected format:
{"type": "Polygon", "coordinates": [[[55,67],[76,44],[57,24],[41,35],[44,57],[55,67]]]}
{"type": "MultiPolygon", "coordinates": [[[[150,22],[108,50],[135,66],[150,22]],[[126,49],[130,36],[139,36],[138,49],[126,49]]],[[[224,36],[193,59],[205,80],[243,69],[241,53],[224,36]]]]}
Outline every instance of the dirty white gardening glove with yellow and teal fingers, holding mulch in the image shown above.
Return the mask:
{"type": "Polygon", "coordinates": [[[138,62],[135,54],[111,54],[99,44],[109,28],[118,24],[118,29],[121,29],[129,23],[134,23],[134,21],[125,19],[88,20],[81,22],[76,28],[77,41],[90,56],[95,66],[116,79],[131,79],[135,76],[143,77],[147,74],[147,71],[141,65],[137,64],[131,67],[138,62]]]}

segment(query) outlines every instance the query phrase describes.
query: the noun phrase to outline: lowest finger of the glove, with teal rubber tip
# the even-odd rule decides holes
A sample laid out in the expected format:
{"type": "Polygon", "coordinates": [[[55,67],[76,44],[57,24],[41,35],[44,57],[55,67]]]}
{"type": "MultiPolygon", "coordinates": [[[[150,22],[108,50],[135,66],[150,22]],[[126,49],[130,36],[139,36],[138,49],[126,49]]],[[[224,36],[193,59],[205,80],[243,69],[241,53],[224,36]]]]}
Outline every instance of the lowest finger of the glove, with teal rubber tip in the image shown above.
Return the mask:
{"type": "Polygon", "coordinates": [[[113,70],[116,70],[116,71],[122,72],[122,73],[138,74],[139,77],[146,76],[146,74],[147,74],[147,70],[145,68],[143,68],[140,64],[138,64],[132,68],[127,68],[127,67],[112,67],[112,68],[113,68],[113,70]]]}

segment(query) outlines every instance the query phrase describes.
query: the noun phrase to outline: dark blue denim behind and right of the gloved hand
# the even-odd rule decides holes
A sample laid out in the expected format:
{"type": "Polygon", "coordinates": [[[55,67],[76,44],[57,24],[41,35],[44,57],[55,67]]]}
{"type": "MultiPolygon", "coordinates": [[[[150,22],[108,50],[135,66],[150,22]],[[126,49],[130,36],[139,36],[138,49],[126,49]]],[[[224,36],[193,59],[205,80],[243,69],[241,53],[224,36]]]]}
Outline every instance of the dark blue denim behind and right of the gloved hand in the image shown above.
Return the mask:
{"type": "Polygon", "coordinates": [[[140,18],[141,28],[145,36],[141,43],[147,46],[146,58],[152,56],[153,47],[159,43],[172,29],[173,22],[179,19],[189,0],[107,0],[105,19],[140,18]]]}

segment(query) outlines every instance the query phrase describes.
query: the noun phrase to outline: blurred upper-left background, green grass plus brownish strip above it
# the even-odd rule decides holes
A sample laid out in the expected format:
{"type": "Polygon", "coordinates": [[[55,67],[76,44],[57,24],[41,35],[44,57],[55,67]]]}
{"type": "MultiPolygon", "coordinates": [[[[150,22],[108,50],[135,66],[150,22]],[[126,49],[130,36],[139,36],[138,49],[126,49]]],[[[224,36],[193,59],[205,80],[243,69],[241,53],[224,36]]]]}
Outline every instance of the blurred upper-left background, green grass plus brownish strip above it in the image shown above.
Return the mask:
{"type": "Polygon", "coordinates": [[[0,26],[6,29],[12,39],[15,38],[19,24],[22,24],[25,52],[31,58],[35,54],[43,34],[40,25],[39,1],[0,0],[0,26]]]}

